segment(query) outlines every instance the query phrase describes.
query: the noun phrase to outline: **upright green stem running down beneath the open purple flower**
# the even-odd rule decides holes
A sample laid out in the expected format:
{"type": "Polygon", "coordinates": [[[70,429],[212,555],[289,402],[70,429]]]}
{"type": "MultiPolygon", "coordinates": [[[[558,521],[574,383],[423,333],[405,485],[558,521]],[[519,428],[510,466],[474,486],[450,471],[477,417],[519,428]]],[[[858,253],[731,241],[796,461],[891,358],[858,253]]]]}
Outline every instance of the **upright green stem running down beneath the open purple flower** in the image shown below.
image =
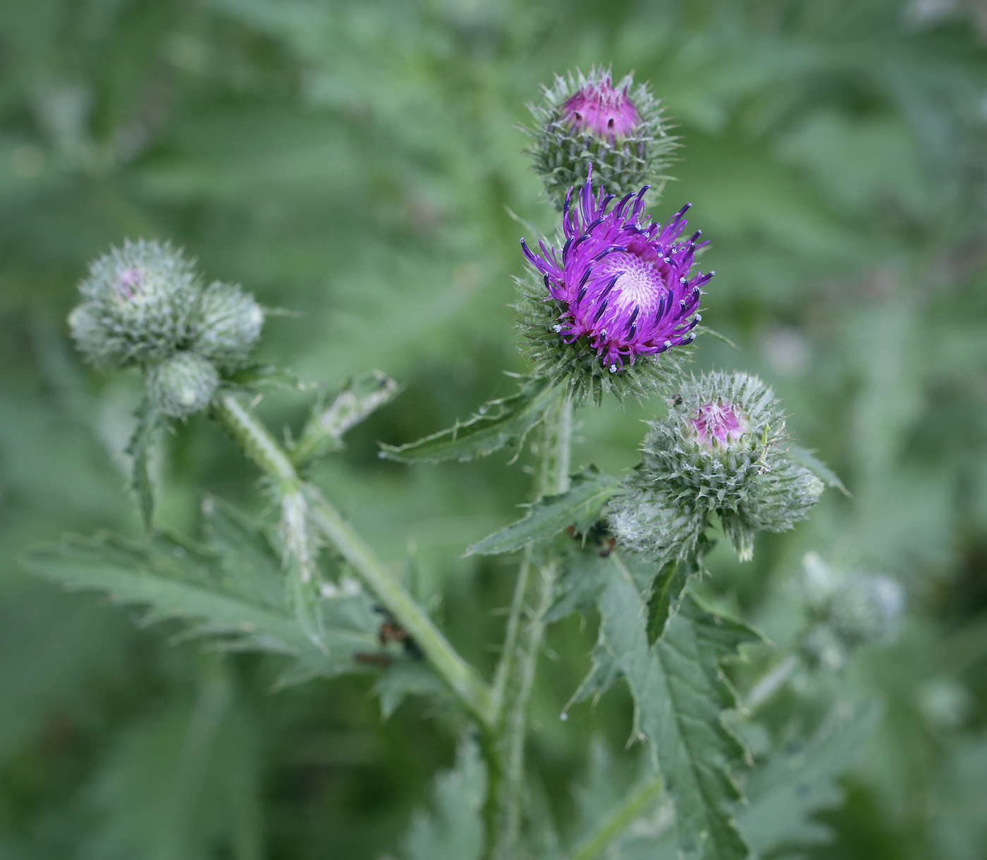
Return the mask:
{"type": "MultiPolygon", "coordinates": [[[[535,498],[569,489],[572,402],[565,395],[545,415],[538,445],[535,498]]],[[[494,731],[498,743],[488,755],[491,774],[487,803],[487,857],[516,856],[524,795],[524,745],[528,704],[552,605],[558,563],[552,550],[524,551],[507,619],[504,647],[493,684],[494,731]],[[537,577],[532,577],[534,571],[537,577]],[[522,625],[522,620],[526,623],[522,625]],[[491,759],[495,760],[491,760],[491,759]]]]}

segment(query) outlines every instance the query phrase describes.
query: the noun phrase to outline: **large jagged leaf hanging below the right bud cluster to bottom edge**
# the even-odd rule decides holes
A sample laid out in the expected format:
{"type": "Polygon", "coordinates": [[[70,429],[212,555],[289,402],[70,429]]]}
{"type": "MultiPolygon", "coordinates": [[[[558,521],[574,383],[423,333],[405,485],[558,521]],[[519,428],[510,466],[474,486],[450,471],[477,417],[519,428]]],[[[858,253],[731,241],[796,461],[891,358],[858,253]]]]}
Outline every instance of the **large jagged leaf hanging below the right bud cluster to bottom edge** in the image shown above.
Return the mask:
{"type": "Polygon", "coordinates": [[[615,563],[600,595],[594,665],[573,698],[598,695],[623,675],[634,696],[636,734],[650,742],[675,803],[681,855],[742,860],[750,850],[732,819],[740,792],[730,770],[745,751],[721,719],[737,704],[721,662],[760,636],[686,594],[664,636],[650,646],[642,594],[615,563]]]}

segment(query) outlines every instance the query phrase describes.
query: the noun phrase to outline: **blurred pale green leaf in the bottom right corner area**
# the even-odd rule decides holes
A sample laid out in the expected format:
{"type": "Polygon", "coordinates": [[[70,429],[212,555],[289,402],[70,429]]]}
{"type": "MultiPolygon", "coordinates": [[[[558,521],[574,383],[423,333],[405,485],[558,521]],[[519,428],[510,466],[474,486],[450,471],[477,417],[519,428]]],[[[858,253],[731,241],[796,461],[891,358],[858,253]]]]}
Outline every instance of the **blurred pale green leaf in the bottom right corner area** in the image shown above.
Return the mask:
{"type": "Polygon", "coordinates": [[[754,769],[737,824],[756,852],[828,840],[828,829],[811,816],[839,806],[836,780],[873,735],[880,713],[875,702],[839,706],[807,743],[788,739],[754,769]]]}

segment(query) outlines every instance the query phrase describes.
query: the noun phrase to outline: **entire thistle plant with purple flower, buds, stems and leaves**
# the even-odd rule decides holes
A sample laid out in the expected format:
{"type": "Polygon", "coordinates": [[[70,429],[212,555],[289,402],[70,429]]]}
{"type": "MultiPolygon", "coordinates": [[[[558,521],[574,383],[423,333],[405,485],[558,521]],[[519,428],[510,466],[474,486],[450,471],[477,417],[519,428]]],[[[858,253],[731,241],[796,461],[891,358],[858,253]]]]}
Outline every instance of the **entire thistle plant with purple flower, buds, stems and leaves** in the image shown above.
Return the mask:
{"type": "MultiPolygon", "coordinates": [[[[320,389],[296,441],[278,441],[251,405],[263,385],[290,378],[250,363],[264,310],[241,287],[207,281],[167,243],[126,242],[101,257],[69,318],[86,359],[141,374],[129,450],[147,535],[69,538],[38,550],[31,564],[67,586],[143,604],[152,618],[180,619],[217,646],[289,658],[281,684],[374,672],[385,715],[409,695],[454,701],[457,725],[466,727],[454,780],[463,790],[443,789],[442,803],[465,823],[417,825],[407,857],[622,856],[631,824],[659,808],[669,816],[648,837],[647,856],[674,851],[674,838],[682,857],[742,860],[787,843],[785,833],[767,838],[745,823],[738,776],[752,761],[730,725],[751,719],[796,665],[809,674],[838,670],[853,649],[892,635],[900,590],[885,579],[833,575],[810,557],[805,633],[793,654],[750,684],[740,710],[724,666],[744,646],[768,646],[706,604],[703,579],[716,576],[707,559],[724,537],[749,559],[759,532],[794,527],[825,484],[838,481],[797,448],[764,382],[743,372],[684,373],[713,273],[698,269],[700,232],[682,238],[688,204],[665,223],[646,211],[673,143],[649,90],[630,78],[615,87],[609,72],[575,73],[558,78],[534,113],[535,169],[562,219],[555,244],[522,240],[530,272],[520,283],[518,327],[529,372],[514,394],[473,418],[381,448],[408,464],[498,450],[511,462],[533,460],[527,515],[467,548],[517,557],[491,677],[460,656],[311,477],[311,466],[342,449],[346,431],[395,397],[398,383],[368,372],[335,398],[320,389]],[[574,411],[631,395],[658,410],[639,465],[617,476],[574,468],[574,411]],[[260,470],[271,503],[267,519],[255,521],[207,499],[201,542],[157,523],[148,468],[153,430],[197,413],[260,470]],[[531,802],[525,752],[546,629],[576,611],[598,617],[598,643],[562,716],[622,678],[635,702],[632,739],[644,754],[639,784],[562,847],[531,802]]],[[[291,387],[298,396],[310,390],[291,387]]],[[[778,770],[772,760],[755,777],[778,770]]],[[[746,809],[759,802],[753,795],[746,809]]]]}

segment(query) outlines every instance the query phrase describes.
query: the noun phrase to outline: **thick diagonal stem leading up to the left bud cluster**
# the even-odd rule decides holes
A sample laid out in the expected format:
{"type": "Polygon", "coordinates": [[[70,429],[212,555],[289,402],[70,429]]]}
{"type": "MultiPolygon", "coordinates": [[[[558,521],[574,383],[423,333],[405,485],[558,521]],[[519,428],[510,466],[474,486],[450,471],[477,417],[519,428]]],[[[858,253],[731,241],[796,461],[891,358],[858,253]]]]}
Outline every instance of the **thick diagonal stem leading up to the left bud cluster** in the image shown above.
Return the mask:
{"type": "Polygon", "coordinates": [[[332,542],[398,623],[408,631],[435,671],[445,680],[463,707],[486,729],[493,713],[487,684],[449,644],[415,598],[377,558],[356,530],[322,496],[318,488],[299,477],[288,455],[270,433],[232,394],[216,398],[214,417],[261,467],[278,493],[297,494],[306,505],[307,527],[314,526],[332,542]]]}

